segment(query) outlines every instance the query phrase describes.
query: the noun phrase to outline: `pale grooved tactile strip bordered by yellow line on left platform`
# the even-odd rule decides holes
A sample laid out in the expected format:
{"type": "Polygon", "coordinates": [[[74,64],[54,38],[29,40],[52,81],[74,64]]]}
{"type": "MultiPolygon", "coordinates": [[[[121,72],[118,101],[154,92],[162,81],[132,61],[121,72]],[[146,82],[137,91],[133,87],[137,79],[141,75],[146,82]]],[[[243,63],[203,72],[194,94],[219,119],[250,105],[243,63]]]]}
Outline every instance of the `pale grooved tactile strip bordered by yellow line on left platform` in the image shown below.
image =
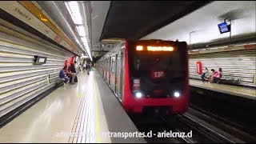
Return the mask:
{"type": "Polygon", "coordinates": [[[98,84],[91,72],[86,80],[85,92],[78,107],[69,143],[101,143],[111,142],[107,137],[108,127],[102,107],[98,84]]]}

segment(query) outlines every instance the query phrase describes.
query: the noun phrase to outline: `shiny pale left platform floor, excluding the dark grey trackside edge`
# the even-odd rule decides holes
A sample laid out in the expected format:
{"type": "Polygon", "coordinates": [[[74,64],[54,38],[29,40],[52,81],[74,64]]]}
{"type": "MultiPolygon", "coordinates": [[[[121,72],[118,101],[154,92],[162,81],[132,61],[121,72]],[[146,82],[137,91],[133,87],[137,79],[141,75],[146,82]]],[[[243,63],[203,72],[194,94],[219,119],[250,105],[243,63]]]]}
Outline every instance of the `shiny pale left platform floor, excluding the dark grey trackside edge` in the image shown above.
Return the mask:
{"type": "Polygon", "coordinates": [[[3,126],[0,142],[111,142],[99,94],[94,71],[81,72],[3,126]]]}

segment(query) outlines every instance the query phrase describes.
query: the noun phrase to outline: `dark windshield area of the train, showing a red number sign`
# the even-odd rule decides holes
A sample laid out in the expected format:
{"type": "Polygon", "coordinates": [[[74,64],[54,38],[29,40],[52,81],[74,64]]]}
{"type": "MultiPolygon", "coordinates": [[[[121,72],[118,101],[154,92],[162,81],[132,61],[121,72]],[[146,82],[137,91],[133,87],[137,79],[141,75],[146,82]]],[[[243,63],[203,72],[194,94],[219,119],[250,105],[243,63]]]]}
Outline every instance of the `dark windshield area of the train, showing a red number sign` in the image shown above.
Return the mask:
{"type": "MultiPolygon", "coordinates": [[[[175,47],[177,49],[178,47],[175,47]]],[[[131,50],[132,51],[132,50],[131,50]]],[[[149,98],[172,97],[186,86],[186,50],[136,50],[130,54],[130,86],[149,98]]]]}

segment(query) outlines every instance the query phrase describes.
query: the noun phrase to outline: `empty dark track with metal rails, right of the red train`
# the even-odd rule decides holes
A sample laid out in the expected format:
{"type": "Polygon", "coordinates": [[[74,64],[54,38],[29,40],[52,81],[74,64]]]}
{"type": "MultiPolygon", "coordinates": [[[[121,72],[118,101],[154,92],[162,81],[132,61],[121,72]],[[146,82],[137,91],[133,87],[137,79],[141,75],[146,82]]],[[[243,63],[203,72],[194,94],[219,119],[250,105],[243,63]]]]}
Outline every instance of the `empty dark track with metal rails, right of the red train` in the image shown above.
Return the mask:
{"type": "Polygon", "coordinates": [[[246,133],[244,127],[194,106],[190,106],[187,113],[176,115],[176,120],[201,135],[199,142],[256,142],[256,137],[246,133]]]}

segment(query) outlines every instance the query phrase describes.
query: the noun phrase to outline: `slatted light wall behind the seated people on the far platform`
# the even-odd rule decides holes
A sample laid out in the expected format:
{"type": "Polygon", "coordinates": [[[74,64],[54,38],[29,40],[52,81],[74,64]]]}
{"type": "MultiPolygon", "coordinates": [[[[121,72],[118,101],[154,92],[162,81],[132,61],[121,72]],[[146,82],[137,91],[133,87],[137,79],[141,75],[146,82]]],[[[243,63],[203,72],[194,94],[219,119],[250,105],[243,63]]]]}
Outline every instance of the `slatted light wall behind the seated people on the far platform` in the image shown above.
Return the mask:
{"type": "Polygon", "coordinates": [[[208,68],[218,70],[222,68],[223,77],[240,79],[238,85],[255,87],[256,50],[234,50],[222,51],[207,54],[189,55],[189,76],[190,78],[201,79],[197,74],[196,62],[202,62],[202,70],[208,68]]]}

